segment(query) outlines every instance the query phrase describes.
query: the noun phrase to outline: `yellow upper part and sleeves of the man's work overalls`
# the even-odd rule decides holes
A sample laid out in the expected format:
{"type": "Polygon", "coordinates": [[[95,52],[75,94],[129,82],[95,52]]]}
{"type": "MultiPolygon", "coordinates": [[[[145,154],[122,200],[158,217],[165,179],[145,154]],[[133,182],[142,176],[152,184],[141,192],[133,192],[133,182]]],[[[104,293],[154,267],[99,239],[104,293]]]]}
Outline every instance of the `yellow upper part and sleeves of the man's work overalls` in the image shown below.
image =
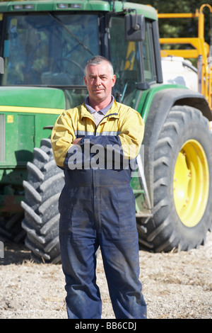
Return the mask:
{"type": "MultiPolygon", "coordinates": [[[[92,138],[92,144],[122,145],[125,159],[134,159],[139,154],[143,140],[144,122],[141,115],[122,103],[114,101],[99,125],[85,103],[59,115],[52,130],[52,149],[58,166],[69,169],[65,160],[72,142],[77,137],[92,138]],[[116,140],[113,140],[113,139],[116,140]]],[[[81,140],[82,141],[82,140],[81,140]]]]}

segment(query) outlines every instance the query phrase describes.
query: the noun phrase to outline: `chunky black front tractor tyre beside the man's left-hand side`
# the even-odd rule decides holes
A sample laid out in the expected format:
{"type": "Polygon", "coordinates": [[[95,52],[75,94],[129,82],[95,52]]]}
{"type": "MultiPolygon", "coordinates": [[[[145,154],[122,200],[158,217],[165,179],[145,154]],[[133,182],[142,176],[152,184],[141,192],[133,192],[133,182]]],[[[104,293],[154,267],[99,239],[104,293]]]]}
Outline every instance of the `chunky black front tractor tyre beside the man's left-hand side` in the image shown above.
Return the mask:
{"type": "Polygon", "coordinates": [[[64,173],[54,162],[49,139],[41,141],[28,162],[28,181],[23,182],[25,210],[22,227],[27,233],[25,245],[35,261],[60,262],[58,199],[64,186],[64,173]]]}

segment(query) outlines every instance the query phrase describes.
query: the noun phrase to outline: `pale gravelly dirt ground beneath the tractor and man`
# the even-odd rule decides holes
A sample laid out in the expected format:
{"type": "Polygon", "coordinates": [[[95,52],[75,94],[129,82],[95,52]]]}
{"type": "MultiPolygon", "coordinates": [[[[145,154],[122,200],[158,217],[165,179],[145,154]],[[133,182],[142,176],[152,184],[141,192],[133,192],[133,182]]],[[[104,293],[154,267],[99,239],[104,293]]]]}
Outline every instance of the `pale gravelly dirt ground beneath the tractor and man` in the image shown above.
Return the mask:
{"type": "MultiPolygon", "coordinates": [[[[212,318],[212,233],[189,252],[140,251],[141,282],[149,319],[212,318]]],[[[114,314],[98,256],[102,319],[114,314]]],[[[64,274],[61,264],[35,264],[23,245],[5,244],[0,259],[0,319],[63,319],[64,274]]]]}

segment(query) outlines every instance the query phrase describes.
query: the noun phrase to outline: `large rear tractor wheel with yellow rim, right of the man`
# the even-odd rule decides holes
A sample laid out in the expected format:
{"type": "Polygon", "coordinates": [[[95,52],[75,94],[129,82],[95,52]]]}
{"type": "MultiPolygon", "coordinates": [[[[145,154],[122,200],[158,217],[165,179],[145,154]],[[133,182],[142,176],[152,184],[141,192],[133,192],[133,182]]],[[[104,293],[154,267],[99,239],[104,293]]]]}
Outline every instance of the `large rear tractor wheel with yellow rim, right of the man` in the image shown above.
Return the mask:
{"type": "Polygon", "coordinates": [[[212,217],[212,138],[199,110],[171,108],[153,164],[153,218],[138,226],[141,244],[154,252],[199,247],[212,217]]]}

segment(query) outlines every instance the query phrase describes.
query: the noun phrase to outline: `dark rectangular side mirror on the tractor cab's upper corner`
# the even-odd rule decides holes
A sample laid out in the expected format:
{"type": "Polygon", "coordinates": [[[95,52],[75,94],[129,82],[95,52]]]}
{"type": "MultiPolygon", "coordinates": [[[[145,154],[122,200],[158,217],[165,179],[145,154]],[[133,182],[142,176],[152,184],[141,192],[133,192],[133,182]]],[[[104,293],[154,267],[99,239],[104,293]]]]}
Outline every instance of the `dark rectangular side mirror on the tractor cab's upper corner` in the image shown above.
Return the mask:
{"type": "Polygon", "coordinates": [[[125,38],[131,42],[139,42],[145,37],[145,18],[141,14],[125,16],[125,38]]]}

